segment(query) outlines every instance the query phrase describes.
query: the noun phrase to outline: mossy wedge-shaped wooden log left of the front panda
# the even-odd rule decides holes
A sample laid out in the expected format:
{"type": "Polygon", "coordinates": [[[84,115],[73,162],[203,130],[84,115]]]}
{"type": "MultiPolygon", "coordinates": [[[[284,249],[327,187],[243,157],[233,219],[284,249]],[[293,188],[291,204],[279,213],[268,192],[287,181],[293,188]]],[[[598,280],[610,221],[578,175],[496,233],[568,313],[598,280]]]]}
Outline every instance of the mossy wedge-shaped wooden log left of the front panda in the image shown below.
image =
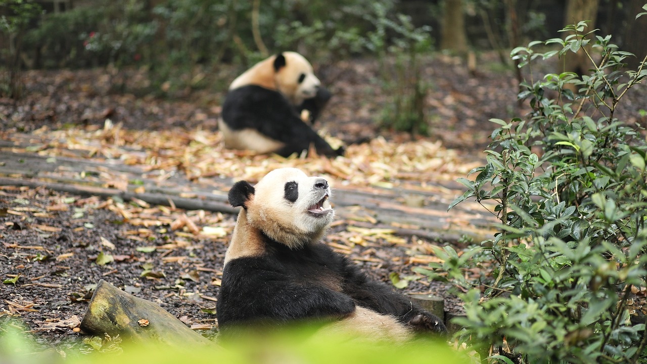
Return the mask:
{"type": "Polygon", "coordinates": [[[100,336],[120,335],[137,342],[153,340],[174,347],[215,345],[157,304],[126,293],[103,279],[96,285],[80,327],[100,336]]]}

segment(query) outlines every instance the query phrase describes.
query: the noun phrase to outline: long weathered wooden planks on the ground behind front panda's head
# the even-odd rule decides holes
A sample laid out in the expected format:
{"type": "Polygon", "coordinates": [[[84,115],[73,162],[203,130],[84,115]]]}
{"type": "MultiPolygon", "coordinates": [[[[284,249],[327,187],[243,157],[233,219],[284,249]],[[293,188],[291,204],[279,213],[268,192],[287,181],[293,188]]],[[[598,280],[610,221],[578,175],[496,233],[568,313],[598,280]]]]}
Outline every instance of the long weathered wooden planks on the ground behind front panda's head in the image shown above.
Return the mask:
{"type": "MultiPolygon", "coordinates": [[[[186,210],[228,214],[238,211],[228,204],[226,197],[232,185],[230,178],[201,177],[190,181],[181,172],[168,178],[158,177],[140,166],[123,165],[118,160],[50,158],[0,150],[0,185],[43,186],[83,196],[117,196],[125,201],[137,198],[153,205],[175,205],[186,210]]],[[[376,222],[395,226],[402,235],[444,241],[457,241],[463,236],[480,241],[492,236],[490,226],[494,219],[483,207],[463,203],[447,211],[449,201],[461,193],[450,183],[434,185],[432,190],[340,186],[334,188],[331,201],[342,219],[368,216],[374,226],[376,222]],[[408,206],[406,196],[420,201],[421,207],[408,206]]]]}

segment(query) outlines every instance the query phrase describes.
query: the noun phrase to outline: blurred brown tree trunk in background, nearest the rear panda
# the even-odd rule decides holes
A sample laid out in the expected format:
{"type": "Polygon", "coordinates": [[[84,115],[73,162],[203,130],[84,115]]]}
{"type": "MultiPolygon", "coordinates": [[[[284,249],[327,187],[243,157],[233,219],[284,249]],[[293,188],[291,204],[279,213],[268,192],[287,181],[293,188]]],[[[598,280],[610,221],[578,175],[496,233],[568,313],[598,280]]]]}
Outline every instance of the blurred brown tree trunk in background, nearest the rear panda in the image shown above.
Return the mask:
{"type": "Polygon", "coordinates": [[[463,0],[445,0],[443,25],[441,28],[441,49],[448,49],[455,54],[467,54],[467,36],[463,0]]]}

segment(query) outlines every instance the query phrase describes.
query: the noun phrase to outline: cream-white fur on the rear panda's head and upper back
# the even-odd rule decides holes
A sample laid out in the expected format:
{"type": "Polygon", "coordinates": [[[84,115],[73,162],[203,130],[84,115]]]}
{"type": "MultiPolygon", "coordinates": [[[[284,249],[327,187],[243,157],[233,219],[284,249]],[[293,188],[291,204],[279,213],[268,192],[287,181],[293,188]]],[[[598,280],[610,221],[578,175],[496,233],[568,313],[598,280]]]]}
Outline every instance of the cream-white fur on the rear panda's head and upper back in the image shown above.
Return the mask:
{"type": "Polygon", "coordinates": [[[256,63],[245,73],[236,77],[229,89],[237,89],[245,85],[259,85],[266,89],[277,90],[287,98],[293,106],[299,106],[306,98],[314,97],[321,81],[314,75],[313,66],[297,52],[282,52],[285,64],[274,71],[276,55],[256,63]],[[302,82],[298,82],[303,74],[302,82]]]}

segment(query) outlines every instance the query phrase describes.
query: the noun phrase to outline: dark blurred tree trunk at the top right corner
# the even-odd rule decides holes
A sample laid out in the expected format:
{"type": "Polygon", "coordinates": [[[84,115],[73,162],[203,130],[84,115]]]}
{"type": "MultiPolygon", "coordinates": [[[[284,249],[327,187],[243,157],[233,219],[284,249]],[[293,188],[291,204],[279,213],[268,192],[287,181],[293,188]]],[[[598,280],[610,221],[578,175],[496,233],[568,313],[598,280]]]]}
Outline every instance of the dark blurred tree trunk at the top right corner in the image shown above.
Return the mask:
{"type": "Polygon", "coordinates": [[[635,57],[628,57],[625,59],[628,69],[636,70],[640,62],[647,54],[647,41],[644,36],[647,34],[647,15],[641,16],[636,19],[636,15],[644,12],[642,5],[645,4],[644,0],[631,0],[629,12],[627,16],[626,34],[624,36],[624,44],[622,50],[635,54],[635,57]]]}

